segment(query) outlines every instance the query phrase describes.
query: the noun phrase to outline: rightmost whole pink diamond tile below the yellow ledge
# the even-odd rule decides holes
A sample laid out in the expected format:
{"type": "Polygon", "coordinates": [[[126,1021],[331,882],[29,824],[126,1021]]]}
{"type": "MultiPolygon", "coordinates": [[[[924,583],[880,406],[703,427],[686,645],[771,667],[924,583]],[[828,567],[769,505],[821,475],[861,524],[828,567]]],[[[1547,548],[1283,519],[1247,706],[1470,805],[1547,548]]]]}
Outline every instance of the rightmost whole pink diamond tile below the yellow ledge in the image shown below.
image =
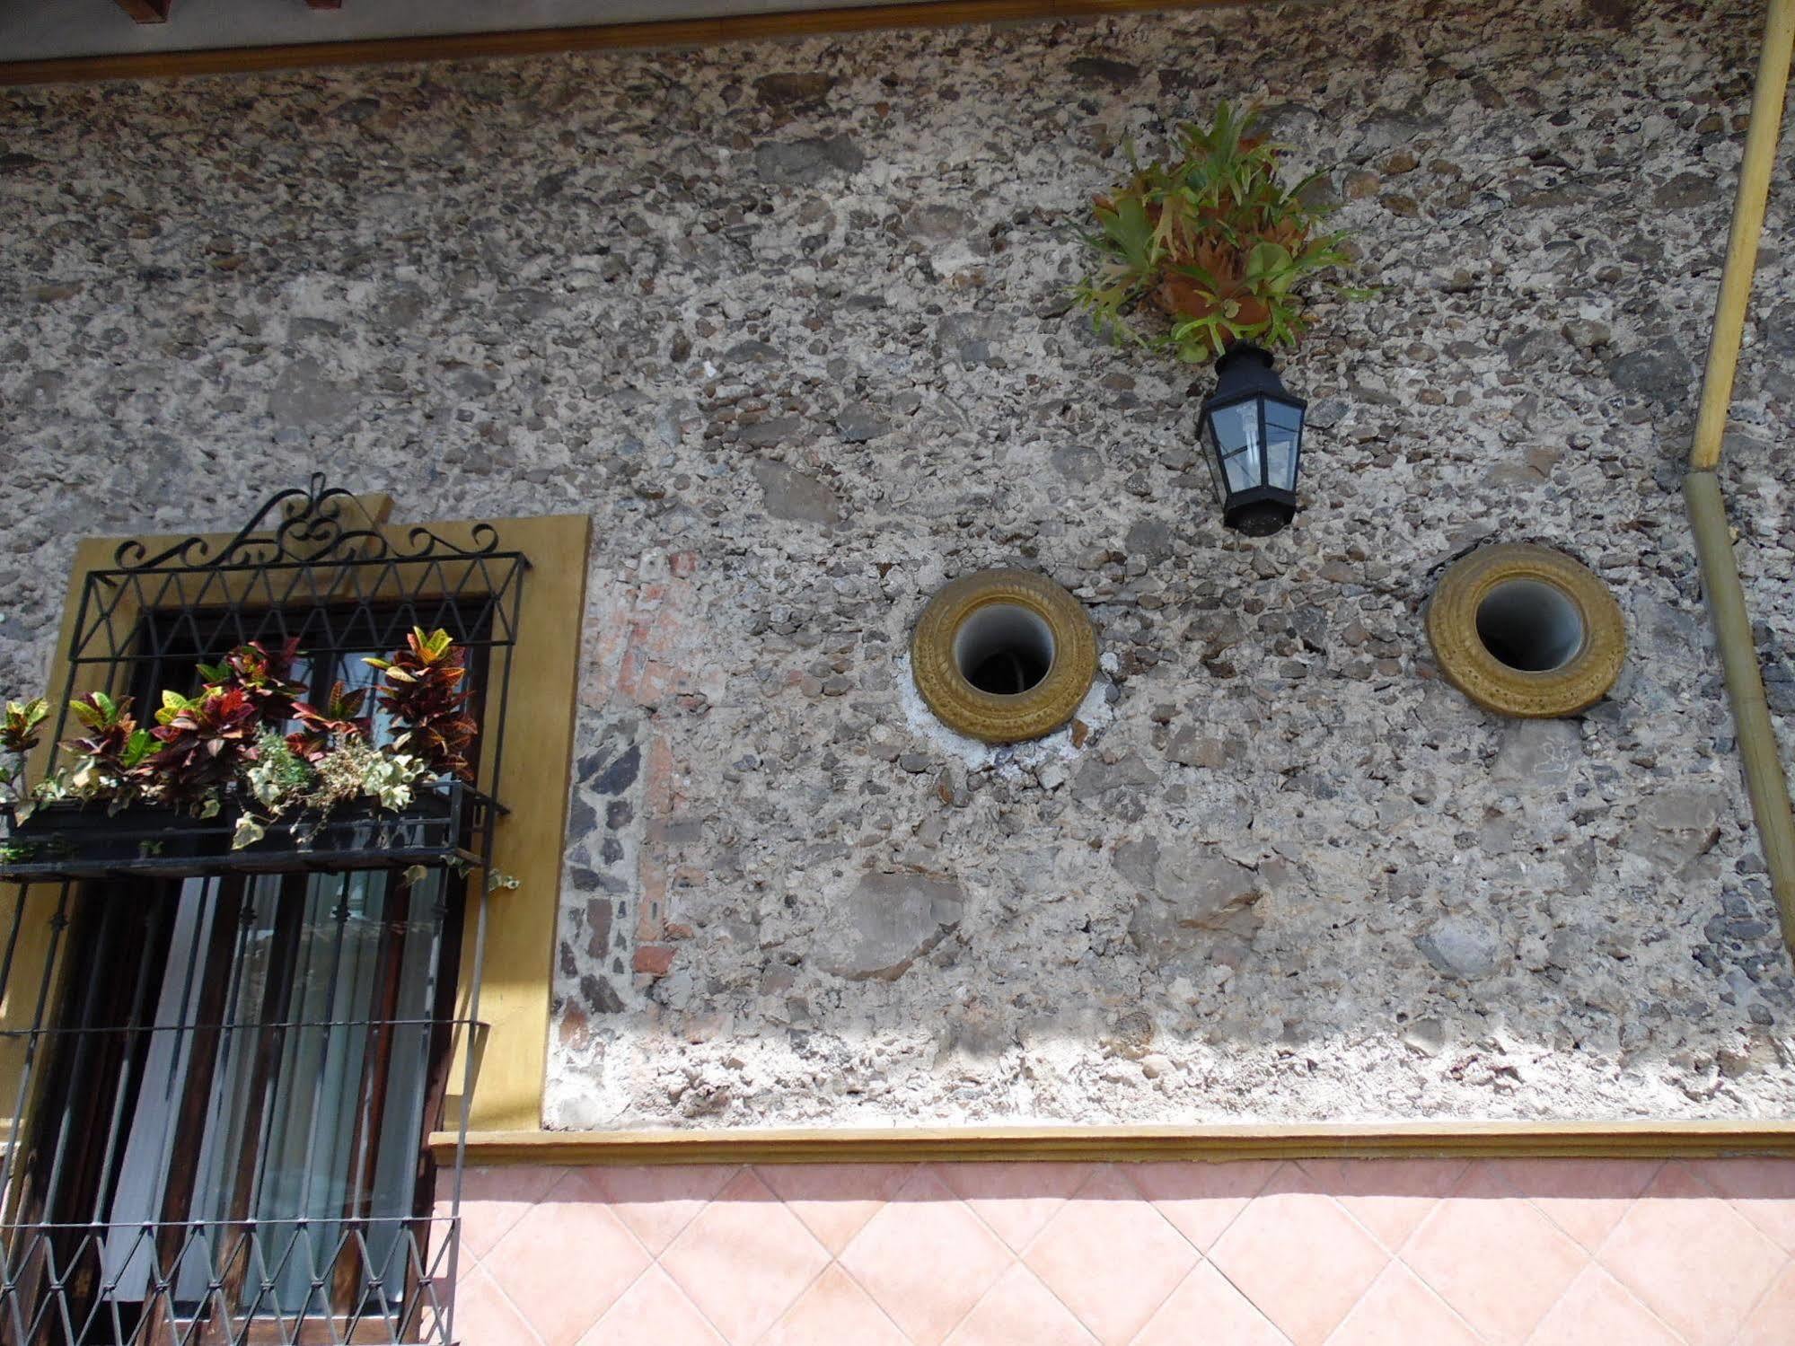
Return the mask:
{"type": "Polygon", "coordinates": [[[1598,1256],[1696,1346],[1727,1342],[1782,1271],[1782,1249],[1680,1161],[1664,1165],[1598,1256]]]}

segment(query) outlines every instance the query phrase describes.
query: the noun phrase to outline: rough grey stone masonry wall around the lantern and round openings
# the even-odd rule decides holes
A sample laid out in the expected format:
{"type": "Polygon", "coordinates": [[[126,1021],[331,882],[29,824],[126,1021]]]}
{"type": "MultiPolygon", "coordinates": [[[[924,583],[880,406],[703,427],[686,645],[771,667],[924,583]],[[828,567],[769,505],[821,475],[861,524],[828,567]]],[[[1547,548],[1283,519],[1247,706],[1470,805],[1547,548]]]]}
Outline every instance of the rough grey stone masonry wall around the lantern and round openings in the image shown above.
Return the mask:
{"type": "MultiPolygon", "coordinates": [[[[1677,494],[1759,13],[1395,0],[0,93],[0,689],[74,540],[327,470],[589,511],[562,1127],[1790,1116],[1795,982],[1677,494]],[[1093,190],[1221,99],[1328,170],[1305,511],[1068,314],[1093,190]],[[1422,607],[1589,562],[1632,655],[1502,721],[1422,607]],[[946,578],[1099,625],[1075,734],[917,707],[946,578]]],[[[1727,443],[1795,743],[1790,163],[1727,443]]]]}

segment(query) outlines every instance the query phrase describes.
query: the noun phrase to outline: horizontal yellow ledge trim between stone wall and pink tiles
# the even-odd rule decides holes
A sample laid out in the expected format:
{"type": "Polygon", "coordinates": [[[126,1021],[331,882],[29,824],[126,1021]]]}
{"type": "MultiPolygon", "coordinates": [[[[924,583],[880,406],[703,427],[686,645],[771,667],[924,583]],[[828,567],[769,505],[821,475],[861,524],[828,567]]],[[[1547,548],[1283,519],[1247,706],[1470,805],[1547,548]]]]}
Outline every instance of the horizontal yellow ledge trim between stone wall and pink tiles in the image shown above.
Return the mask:
{"type": "MultiPolygon", "coordinates": [[[[449,1159],[452,1132],[431,1136],[449,1159]]],[[[731,1131],[479,1131],[467,1163],[973,1163],[1312,1158],[1795,1156],[1795,1122],[1323,1122],[1199,1127],[885,1127],[731,1131]]]]}

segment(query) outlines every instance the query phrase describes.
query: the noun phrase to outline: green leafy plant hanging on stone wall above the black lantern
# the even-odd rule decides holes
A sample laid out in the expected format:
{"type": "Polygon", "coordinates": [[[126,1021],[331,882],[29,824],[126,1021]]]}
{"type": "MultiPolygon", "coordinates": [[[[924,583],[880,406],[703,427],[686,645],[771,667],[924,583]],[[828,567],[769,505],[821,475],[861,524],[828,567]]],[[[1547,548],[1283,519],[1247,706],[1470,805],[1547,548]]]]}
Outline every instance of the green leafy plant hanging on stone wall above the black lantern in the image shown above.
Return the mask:
{"type": "Polygon", "coordinates": [[[1253,113],[1224,102],[1213,124],[1179,131],[1172,163],[1140,167],[1129,147],[1134,176],[1095,197],[1099,233],[1086,242],[1102,262],[1073,298],[1118,345],[1170,350],[1188,363],[1240,341],[1296,345],[1309,325],[1305,282],[1346,298],[1373,293],[1328,275],[1350,258],[1346,232],[1319,232],[1327,208],[1305,201],[1321,174],[1285,187],[1278,158],[1287,145],[1253,135],[1253,113]],[[1129,316],[1142,303],[1169,319],[1167,330],[1134,330],[1129,316]]]}

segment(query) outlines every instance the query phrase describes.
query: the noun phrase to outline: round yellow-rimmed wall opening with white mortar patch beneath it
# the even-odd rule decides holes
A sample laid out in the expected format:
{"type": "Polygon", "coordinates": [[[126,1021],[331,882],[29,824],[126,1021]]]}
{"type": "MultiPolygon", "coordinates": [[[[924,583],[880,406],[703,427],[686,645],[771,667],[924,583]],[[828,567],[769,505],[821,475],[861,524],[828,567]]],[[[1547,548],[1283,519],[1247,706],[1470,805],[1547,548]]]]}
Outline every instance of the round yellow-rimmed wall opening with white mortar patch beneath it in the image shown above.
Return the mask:
{"type": "Polygon", "coordinates": [[[1097,632],[1079,601],[1029,571],[944,585],[910,639],[915,689],[948,729],[985,743],[1052,734],[1097,677],[1097,632]]]}

